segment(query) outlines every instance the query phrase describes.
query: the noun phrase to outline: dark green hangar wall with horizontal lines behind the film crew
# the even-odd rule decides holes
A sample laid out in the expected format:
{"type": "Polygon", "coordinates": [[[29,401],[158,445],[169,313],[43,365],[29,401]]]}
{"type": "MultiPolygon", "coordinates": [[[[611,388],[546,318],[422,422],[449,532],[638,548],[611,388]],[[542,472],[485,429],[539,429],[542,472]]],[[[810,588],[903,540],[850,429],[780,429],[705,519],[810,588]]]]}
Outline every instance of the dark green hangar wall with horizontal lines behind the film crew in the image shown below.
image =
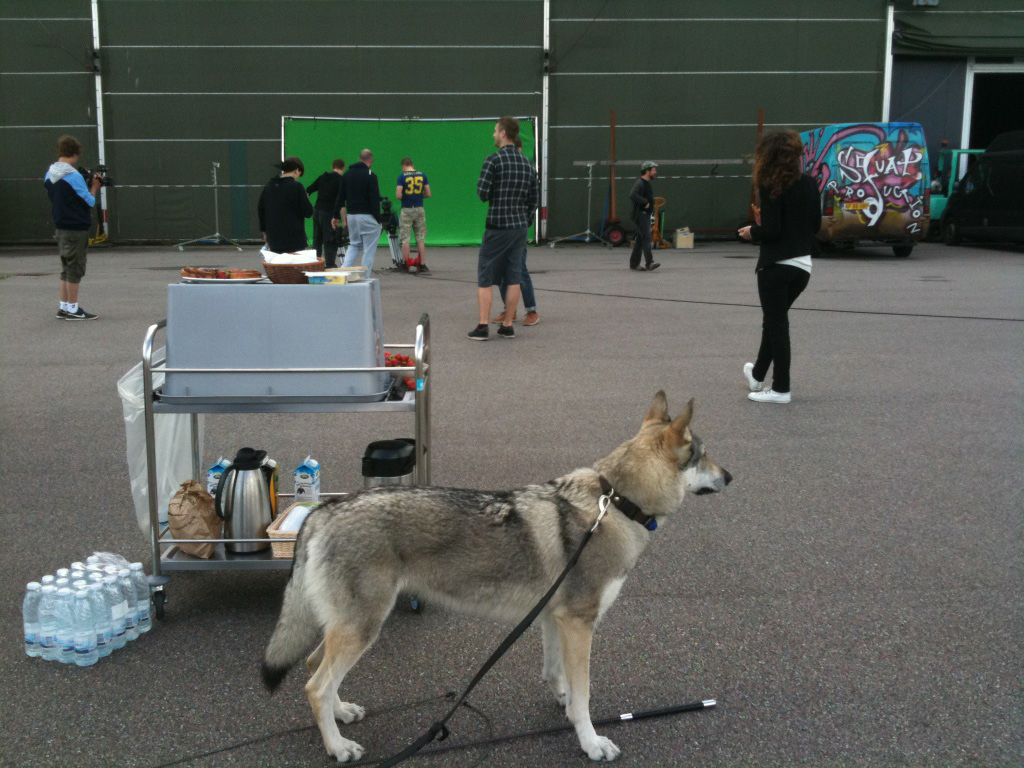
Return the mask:
{"type": "MultiPolygon", "coordinates": [[[[281,118],[542,115],[543,0],[100,0],[113,240],[258,237],[281,118]]],[[[804,129],[881,116],[884,0],[553,0],[549,237],[586,228],[586,161],[655,159],[667,224],[744,214],[758,108],[804,129]],[[673,161],[686,161],[674,164],[673,161]],[[694,162],[696,161],[696,162],[694,162]]],[[[57,135],[96,161],[88,0],[4,0],[0,241],[45,241],[40,178],[57,135]]],[[[357,147],[340,147],[349,158],[357,147]]],[[[482,158],[481,158],[482,161],[482,158]]],[[[429,159],[421,165],[429,172],[429,159]]],[[[310,171],[316,169],[309,169],[310,171]]],[[[477,168],[467,169],[467,183],[477,168]]],[[[629,181],[618,170],[620,212],[629,181]]],[[[605,208],[595,168],[592,226],[605,208]]]]}

